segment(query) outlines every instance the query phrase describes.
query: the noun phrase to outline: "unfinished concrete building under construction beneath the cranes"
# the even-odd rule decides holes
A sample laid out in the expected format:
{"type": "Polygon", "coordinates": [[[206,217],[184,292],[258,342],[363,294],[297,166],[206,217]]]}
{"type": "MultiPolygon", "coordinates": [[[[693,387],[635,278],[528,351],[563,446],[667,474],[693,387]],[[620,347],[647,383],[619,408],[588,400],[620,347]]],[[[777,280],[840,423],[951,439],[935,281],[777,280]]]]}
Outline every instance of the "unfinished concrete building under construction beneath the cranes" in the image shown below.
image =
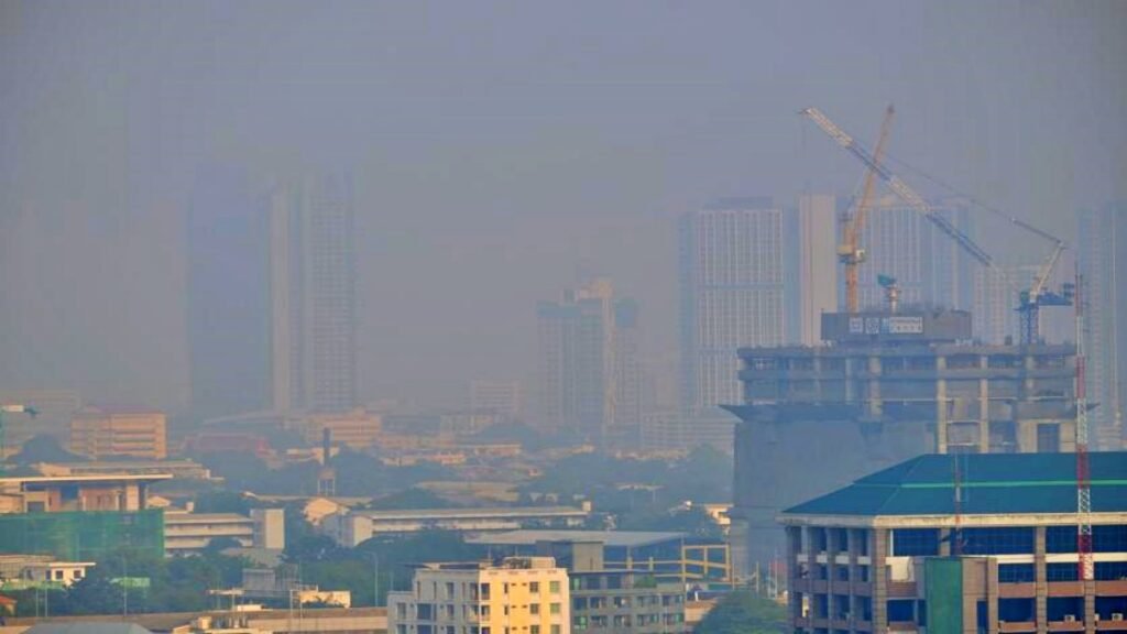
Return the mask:
{"type": "Polygon", "coordinates": [[[825,314],[820,346],[739,350],[731,555],[783,553],[777,513],[920,454],[1075,449],[1075,349],[982,345],[959,310],[825,314]]]}

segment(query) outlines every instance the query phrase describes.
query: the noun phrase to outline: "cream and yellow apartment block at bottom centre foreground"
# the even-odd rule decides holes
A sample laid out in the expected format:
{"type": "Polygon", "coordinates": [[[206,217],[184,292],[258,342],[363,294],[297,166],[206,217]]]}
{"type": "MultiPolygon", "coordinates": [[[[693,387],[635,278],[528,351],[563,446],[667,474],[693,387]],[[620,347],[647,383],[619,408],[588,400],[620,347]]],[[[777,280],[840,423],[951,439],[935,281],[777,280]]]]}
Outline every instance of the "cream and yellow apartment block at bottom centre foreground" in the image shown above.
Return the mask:
{"type": "Polygon", "coordinates": [[[551,557],[424,564],[388,595],[389,634],[569,634],[568,574],[551,557]]]}

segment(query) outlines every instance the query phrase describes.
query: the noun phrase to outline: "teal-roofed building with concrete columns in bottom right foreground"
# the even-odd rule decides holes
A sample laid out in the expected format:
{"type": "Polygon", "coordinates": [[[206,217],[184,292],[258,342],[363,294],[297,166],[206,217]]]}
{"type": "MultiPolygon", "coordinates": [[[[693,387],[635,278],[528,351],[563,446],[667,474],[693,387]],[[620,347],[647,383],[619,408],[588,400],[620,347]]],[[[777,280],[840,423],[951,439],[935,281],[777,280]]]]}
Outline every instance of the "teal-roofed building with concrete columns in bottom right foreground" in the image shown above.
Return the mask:
{"type": "Polygon", "coordinates": [[[1127,631],[1127,452],[921,456],[787,509],[789,632],[1127,631]]]}

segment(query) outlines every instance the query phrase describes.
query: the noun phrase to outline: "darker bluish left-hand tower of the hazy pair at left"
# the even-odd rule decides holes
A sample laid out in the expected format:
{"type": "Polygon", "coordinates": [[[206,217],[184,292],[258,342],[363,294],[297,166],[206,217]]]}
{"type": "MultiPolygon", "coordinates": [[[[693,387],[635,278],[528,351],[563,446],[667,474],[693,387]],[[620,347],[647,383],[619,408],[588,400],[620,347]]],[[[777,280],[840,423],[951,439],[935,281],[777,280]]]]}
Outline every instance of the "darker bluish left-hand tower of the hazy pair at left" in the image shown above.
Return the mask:
{"type": "Polygon", "coordinates": [[[237,170],[196,175],[187,213],[190,407],[201,419],[269,410],[269,218],[237,170]]]}

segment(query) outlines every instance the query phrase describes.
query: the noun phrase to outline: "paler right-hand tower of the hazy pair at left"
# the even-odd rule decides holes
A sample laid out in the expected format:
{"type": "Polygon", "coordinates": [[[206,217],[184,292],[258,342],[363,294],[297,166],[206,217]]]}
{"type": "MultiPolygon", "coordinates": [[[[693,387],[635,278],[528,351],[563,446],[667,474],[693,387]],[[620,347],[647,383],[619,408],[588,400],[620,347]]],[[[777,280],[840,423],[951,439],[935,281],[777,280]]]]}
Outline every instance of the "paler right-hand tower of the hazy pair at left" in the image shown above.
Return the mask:
{"type": "Polygon", "coordinates": [[[345,412],[356,404],[356,265],[347,177],[305,179],[270,196],[274,406],[345,412]]]}

